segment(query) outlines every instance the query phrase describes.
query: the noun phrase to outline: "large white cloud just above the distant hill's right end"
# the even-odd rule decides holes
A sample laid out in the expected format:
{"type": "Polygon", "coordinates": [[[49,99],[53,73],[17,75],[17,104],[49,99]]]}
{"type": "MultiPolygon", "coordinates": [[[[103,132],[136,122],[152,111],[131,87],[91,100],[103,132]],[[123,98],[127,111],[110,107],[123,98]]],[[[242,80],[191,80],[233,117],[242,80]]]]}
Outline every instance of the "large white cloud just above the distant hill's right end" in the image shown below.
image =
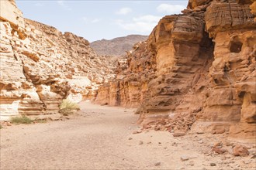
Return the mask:
{"type": "Polygon", "coordinates": [[[116,20],[116,24],[126,30],[149,34],[160,19],[161,16],[143,15],[133,18],[130,22],[124,22],[122,19],[118,19],[116,20]]]}

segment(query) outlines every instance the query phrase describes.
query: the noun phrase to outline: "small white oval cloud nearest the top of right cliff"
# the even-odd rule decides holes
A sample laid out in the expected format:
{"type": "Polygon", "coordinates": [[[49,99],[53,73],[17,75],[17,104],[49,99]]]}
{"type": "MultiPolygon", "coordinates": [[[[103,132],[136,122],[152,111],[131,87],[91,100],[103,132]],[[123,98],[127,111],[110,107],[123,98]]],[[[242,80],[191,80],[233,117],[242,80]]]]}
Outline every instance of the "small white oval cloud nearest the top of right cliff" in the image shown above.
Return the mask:
{"type": "Polygon", "coordinates": [[[171,5],[171,4],[161,4],[157,6],[157,12],[163,12],[168,14],[179,14],[185,9],[183,5],[171,5]]]}

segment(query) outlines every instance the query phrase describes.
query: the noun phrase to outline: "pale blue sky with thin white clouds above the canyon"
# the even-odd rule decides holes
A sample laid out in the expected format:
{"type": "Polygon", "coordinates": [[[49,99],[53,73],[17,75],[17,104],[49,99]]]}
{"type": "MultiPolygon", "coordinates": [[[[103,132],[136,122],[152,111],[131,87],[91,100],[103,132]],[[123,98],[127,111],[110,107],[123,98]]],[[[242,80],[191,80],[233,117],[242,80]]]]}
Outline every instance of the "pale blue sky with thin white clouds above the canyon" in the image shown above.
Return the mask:
{"type": "Polygon", "coordinates": [[[90,42],[130,34],[149,35],[164,15],[178,14],[185,1],[16,0],[24,17],[73,32],[90,42]]]}

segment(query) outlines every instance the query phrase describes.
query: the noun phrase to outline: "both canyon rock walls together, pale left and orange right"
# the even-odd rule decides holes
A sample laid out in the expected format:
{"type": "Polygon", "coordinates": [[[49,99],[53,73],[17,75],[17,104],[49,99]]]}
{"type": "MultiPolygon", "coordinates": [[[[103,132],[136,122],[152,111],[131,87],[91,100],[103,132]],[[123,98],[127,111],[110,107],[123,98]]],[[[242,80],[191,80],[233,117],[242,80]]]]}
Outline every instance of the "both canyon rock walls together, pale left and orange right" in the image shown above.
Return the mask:
{"type": "Polygon", "coordinates": [[[1,120],[61,117],[59,104],[134,107],[144,130],[256,138],[256,2],[189,0],[122,59],[1,1],[1,120]]]}

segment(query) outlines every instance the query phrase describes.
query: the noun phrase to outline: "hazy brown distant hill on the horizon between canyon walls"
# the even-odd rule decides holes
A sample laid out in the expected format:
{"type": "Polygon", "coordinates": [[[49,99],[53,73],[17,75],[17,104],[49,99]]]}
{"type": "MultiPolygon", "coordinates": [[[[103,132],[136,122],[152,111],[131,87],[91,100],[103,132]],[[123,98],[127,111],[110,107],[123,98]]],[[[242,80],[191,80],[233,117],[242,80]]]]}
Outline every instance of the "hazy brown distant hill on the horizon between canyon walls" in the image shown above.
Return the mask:
{"type": "Polygon", "coordinates": [[[133,49],[133,45],[140,41],[145,41],[148,36],[130,35],[115,39],[102,39],[91,42],[90,46],[99,55],[122,56],[126,51],[133,49]]]}

